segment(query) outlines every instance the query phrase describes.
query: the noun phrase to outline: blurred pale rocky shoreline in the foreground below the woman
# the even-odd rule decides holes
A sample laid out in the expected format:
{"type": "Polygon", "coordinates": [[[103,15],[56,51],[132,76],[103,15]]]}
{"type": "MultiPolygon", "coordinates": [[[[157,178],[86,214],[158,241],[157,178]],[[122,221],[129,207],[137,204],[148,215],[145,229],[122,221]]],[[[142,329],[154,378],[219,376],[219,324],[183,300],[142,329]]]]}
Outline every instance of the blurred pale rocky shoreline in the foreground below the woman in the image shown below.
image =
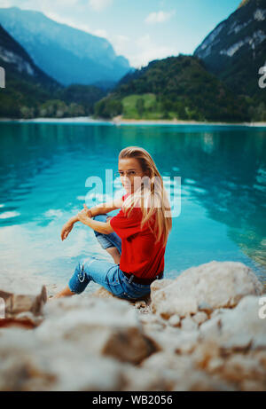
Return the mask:
{"type": "Polygon", "coordinates": [[[2,284],[0,390],[266,390],[266,291],[243,263],[156,280],[136,303],[2,284]]]}

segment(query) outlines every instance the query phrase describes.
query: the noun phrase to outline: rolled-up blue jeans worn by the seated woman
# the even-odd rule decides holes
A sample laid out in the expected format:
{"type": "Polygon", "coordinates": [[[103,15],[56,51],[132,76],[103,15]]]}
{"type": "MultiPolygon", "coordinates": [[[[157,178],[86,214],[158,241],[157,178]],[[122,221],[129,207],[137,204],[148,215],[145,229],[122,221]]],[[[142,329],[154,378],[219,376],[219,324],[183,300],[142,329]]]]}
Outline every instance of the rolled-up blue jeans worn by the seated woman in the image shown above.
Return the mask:
{"type": "MultiPolygon", "coordinates": [[[[106,222],[106,217],[107,215],[98,215],[94,216],[93,219],[106,222]]],[[[94,231],[94,233],[102,248],[116,247],[121,254],[121,238],[115,232],[103,234],[94,231]]],[[[106,262],[93,256],[80,260],[68,282],[68,287],[73,293],[81,294],[90,280],[105,287],[113,295],[127,300],[137,300],[148,295],[151,291],[150,284],[130,282],[121,271],[119,263],[106,262]]]]}

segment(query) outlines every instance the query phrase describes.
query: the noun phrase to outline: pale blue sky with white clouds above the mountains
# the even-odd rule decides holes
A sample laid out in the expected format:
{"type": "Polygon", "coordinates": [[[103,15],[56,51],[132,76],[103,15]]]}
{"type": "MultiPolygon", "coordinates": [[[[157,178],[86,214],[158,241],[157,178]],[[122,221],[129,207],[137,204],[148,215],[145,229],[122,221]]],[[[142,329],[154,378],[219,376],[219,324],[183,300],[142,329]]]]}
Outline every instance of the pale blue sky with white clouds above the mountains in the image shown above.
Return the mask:
{"type": "Polygon", "coordinates": [[[192,54],[241,0],[0,0],[105,37],[131,67],[192,54]]]}

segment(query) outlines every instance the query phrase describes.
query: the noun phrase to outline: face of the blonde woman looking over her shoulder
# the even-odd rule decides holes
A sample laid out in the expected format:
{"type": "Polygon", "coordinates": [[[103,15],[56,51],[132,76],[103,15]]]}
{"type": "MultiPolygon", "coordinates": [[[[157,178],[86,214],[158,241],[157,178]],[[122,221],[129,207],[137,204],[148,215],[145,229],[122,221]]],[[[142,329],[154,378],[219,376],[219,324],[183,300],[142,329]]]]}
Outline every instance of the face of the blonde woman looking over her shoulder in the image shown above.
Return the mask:
{"type": "Polygon", "coordinates": [[[145,176],[139,161],[135,158],[124,158],[118,161],[118,171],[120,173],[121,184],[127,193],[133,193],[134,187],[137,190],[140,185],[140,177],[145,176]]]}

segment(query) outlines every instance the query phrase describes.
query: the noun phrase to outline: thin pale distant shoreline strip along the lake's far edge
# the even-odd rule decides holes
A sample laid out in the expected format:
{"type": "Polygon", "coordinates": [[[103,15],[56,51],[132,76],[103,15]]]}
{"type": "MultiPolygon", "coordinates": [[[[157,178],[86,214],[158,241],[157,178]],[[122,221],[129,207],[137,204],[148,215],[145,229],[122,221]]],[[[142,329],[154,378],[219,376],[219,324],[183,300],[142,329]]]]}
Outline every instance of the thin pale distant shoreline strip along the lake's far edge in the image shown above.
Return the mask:
{"type": "Polygon", "coordinates": [[[11,119],[0,118],[0,122],[75,122],[75,123],[110,123],[113,125],[219,125],[219,126],[249,126],[249,127],[266,127],[266,122],[198,122],[182,120],[137,120],[122,119],[114,117],[112,120],[93,119],[90,116],[79,116],[71,118],[32,118],[32,119],[11,119]]]}

